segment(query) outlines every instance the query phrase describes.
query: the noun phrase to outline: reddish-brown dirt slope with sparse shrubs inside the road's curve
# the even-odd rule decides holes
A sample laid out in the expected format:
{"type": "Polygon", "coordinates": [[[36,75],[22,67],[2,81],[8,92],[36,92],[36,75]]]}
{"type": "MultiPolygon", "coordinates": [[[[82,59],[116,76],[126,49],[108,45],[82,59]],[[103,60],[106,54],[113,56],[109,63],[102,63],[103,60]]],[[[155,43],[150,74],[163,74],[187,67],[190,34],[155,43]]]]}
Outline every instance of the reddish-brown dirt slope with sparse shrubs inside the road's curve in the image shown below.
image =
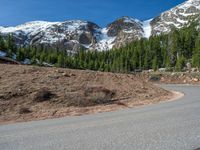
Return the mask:
{"type": "Polygon", "coordinates": [[[110,111],[170,96],[134,75],[0,64],[0,123],[110,111]]]}

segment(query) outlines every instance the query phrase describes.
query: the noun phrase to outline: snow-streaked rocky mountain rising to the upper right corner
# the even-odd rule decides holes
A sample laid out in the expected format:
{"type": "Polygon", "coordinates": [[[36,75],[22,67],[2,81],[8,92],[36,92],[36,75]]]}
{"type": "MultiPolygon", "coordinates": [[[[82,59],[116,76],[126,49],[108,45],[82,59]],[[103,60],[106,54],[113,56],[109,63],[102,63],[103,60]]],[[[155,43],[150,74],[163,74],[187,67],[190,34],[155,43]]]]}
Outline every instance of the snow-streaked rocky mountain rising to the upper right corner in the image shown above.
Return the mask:
{"type": "Polygon", "coordinates": [[[200,20],[200,0],[187,0],[154,18],[151,34],[168,33],[172,27],[181,28],[193,19],[200,20]]]}

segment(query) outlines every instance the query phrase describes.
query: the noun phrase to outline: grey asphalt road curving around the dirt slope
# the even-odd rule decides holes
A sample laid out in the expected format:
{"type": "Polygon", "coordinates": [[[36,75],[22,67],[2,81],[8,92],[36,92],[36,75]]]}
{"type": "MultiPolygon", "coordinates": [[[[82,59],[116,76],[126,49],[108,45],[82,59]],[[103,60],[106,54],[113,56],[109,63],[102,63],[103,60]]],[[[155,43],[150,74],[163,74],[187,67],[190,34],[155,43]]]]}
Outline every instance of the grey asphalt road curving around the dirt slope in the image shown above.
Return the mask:
{"type": "Polygon", "coordinates": [[[115,112],[0,126],[0,150],[194,150],[200,86],[170,85],[179,100],[115,112]]]}

